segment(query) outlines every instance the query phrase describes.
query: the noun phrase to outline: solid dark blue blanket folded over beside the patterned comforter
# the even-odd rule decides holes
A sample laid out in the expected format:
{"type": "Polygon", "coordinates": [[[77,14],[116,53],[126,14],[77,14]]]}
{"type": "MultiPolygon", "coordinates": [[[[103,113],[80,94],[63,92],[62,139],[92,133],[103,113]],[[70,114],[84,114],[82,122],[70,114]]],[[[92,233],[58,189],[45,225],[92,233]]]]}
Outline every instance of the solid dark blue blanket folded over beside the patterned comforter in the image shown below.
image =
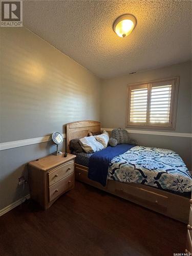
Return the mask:
{"type": "Polygon", "coordinates": [[[89,160],[88,177],[91,180],[99,182],[101,185],[106,185],[108,177],[108,168],[111,160],[125,153],[135,145],[131,144],[118,144],[115,147],[108,146],[101,151],[94,153],[89,160]]]}

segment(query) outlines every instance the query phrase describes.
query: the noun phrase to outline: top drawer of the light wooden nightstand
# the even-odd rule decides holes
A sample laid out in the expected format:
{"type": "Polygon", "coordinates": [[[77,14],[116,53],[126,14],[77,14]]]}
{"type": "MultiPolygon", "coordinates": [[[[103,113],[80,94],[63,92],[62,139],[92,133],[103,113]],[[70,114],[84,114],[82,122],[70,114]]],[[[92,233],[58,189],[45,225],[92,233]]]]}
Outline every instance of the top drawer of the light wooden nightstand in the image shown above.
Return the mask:
{"type": "Polygon", "coordinates": [[[49,186],[53,185],[57,181],[61,180],[62,178],[65,178],[66,176],[68,176],[73,172],[74,172],[73,161],[63,164],[62,166],[59,166],[58,168],[51,170],[48,173],[49,186]]]}

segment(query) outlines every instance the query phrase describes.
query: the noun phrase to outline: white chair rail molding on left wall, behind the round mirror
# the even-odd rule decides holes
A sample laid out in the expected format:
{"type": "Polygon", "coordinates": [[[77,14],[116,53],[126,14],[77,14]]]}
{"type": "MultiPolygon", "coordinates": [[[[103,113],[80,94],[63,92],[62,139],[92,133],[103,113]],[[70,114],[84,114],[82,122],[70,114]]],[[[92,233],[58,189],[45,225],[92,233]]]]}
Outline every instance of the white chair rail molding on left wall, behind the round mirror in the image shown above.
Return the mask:
{"type": "MultiPolygon", "coordinates": [[[[48,142],[51,140],[50,136],[51,135],[44,136],[44,137],[38,137],[38,138],[32,138],[32,139],[3,142],[3,143],[0,143],[0,151],[9,150],[10,148],[14,148],[14,147],[28,146],[28,145],[48,142]]],[[[62,136],[63,136],[63,138],[66,138],[66,134],[62,134],[62,136]]]]}

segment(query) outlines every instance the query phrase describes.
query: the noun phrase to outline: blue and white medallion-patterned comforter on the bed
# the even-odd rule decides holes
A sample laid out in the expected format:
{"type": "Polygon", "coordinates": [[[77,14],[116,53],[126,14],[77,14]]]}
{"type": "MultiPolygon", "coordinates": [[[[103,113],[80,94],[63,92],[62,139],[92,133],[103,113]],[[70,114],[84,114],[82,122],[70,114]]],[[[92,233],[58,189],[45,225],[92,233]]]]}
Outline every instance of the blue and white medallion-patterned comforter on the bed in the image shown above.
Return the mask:
{"type": "Polygon", "coordinates": [[[172,150],[134,146],[112,159],[109,180],[140,183],[180,193],[190,192],[192,177],[181,157],[172,150]]]}

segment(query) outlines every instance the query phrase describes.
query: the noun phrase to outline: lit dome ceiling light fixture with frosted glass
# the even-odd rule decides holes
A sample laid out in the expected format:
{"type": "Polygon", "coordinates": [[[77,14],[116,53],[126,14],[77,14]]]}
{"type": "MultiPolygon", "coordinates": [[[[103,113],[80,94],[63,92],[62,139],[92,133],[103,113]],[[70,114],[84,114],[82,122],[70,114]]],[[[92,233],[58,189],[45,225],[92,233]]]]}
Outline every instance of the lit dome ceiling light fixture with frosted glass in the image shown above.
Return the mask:
{"type": "Polygon", "coordinates": [[[136,24],[137,20],[135,16],[132,14],[123,14],[115,20],[113,30],[118,36],[125,37],[133,31],[136,24]]]}

